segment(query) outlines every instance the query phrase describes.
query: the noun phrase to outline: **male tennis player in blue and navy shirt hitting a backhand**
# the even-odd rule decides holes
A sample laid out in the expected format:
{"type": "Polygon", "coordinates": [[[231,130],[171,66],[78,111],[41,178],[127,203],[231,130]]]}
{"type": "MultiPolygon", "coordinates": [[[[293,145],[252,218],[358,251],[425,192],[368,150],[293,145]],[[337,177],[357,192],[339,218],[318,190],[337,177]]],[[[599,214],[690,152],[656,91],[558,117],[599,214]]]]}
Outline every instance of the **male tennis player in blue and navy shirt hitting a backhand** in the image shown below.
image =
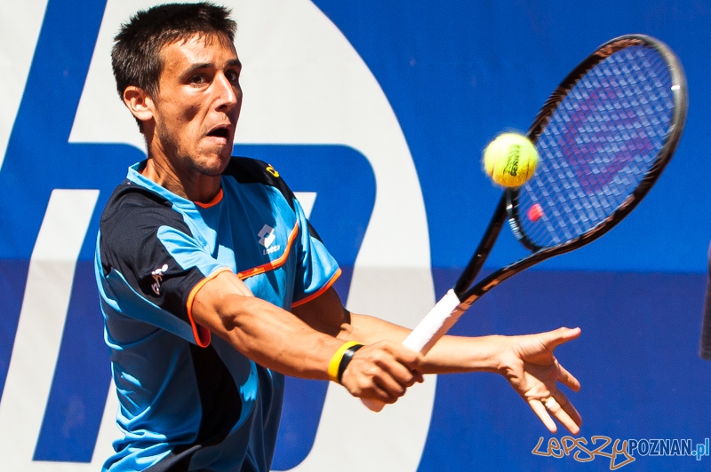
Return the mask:
{"type": "Polygon", "coordinates": [[[555,346],[579,330],[447,337],[349,313],[338,264],[276,169],[230,157],[242,104],[228,10],[166,4],[124,24],[116,85],[148,159],[100,221],[96,274],[124,438],[105,469],[269,470],[284,374],[393,403],[421,373],[504,374],[548,429],[580,418],[555,346]]]}

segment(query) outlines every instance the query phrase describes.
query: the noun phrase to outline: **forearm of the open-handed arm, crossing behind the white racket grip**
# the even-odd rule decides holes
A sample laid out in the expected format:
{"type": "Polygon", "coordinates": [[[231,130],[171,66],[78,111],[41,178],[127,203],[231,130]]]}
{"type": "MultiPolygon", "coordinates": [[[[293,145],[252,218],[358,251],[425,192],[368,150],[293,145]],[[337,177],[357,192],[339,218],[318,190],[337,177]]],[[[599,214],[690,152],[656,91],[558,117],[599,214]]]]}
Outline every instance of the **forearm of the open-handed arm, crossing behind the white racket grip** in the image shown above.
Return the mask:
{"type": "MultiPolygon", "coordinates": [[[[370,343],[382,339],[403,342],[410,330],[382,319],[351,314],[351,323],[341,327],[341,339],[370,343]]],[[[505,336],[444,336],[427,353],[424,374],[457,372],[501,372],[500,358],[507,350],[505,336]]]]}

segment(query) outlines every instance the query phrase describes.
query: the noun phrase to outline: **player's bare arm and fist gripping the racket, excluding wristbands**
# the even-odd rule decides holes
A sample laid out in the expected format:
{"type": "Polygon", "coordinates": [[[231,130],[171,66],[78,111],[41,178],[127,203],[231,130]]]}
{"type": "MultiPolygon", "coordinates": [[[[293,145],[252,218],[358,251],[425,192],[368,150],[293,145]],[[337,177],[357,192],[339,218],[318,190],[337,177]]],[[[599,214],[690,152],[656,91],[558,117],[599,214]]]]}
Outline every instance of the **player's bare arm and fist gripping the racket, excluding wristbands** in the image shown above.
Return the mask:
{"type": "MultiPolygon", "coordinates": [[[[344,343],[332,328],[309,326],[291,312],[253,296],[244,282],[228,271],[198,290],[191,312],[198,325],[247,358],[295,377],[329,380],[329,363],[344,343]]],[[[335,326],[337,331],[340,323],[335,326]]],[[[414,382],[422,381],[422,356],[399,342],[373,342],[358,352],[357,366],[348,368],[350,375],[342,382],[355,397],[393,403],[414,382]]]]}

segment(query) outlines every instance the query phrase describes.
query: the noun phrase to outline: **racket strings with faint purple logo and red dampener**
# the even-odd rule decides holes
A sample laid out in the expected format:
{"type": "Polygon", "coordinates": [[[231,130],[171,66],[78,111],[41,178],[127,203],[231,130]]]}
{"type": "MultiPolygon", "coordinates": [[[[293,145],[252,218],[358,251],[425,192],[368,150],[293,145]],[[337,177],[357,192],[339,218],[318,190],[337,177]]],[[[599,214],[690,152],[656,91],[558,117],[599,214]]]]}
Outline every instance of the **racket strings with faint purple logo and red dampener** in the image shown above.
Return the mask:
{"type": "Polygon", "coordinates": [[[518,225],[533,244],[577,238],[627,201],[667,140],[671,87],[667,62],[646,46],[613,53],[575,84],[539,135],[539,169],[518,193],[518,225]]]}

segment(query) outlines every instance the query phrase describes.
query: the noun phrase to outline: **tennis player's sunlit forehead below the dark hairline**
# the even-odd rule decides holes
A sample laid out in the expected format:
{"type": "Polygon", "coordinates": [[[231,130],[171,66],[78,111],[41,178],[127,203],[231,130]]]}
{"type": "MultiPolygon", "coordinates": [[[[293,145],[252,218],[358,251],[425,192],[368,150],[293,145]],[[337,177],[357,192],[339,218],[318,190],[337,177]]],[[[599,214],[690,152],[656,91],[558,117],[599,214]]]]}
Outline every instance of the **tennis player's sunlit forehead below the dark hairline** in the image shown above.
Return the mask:
{"type": "Polygon", "coordinates": [[[192,67],[196,64],[212,64],[220,67],[228,60],[237,59],[237,51],[223,35],[196,34],[165,44],[161,49],[163,70],[192,67]]]}

